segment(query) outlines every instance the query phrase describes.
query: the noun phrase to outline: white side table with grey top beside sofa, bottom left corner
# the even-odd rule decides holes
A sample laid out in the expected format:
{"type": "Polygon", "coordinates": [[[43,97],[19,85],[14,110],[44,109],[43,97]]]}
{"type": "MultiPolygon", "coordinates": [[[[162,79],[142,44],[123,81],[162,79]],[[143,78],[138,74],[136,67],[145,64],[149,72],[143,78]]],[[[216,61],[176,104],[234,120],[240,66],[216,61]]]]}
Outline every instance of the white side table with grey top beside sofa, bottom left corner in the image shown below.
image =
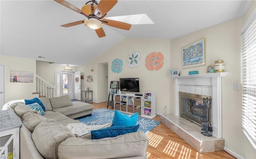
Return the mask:
{"type": "Polygon", "coordinates": [[[14,110],[0,111],[0,157],[8,159],[8,153],[13,152],[14,159],[20,158],[20,127],[22,127],[22,122],[14,110]],[[11,141],[13,149],[8,151],[8,145],[11,145],[11,141]]]}

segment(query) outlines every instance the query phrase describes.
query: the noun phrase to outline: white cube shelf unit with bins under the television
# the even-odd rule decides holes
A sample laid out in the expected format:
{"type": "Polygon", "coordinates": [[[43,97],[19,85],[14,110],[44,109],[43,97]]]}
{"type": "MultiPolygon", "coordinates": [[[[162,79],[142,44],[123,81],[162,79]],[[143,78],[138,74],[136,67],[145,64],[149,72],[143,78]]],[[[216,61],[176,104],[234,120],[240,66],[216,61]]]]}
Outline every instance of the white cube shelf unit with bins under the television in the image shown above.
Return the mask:
{"type": "Polygon", "coordinates": [[[156,116],[155,99],[156,95],[154,92],[143,92],[142,96],[130,93],[114,94],[114,109],[129,114],[138,112],[140,116],[154,118],[156,116]],[[148,94],[151,96],[150,99],[147,99],[148,94]],[[145,113],[145,111],[148,113],[145,113]]]}

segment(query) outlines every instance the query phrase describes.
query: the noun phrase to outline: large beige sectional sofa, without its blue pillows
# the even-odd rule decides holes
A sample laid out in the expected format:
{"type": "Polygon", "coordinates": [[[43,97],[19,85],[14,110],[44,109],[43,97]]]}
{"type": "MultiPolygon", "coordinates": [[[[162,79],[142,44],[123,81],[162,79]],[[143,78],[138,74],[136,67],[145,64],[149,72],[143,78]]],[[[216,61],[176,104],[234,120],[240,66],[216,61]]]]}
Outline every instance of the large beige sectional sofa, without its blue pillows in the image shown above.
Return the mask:
{"type": "Polygon", "coordinates": [[[5,109],[14,109],[22,120],[20,128],[21,159],[146,159],[148,138],[141,132],[103,139],[76,137],[66,127],[80,123],[78,118],[91,115],[93,105],[72,103],[67,96],[40,98],[45,115],[28,108],[24,102],[9,102],[5,109]]]}

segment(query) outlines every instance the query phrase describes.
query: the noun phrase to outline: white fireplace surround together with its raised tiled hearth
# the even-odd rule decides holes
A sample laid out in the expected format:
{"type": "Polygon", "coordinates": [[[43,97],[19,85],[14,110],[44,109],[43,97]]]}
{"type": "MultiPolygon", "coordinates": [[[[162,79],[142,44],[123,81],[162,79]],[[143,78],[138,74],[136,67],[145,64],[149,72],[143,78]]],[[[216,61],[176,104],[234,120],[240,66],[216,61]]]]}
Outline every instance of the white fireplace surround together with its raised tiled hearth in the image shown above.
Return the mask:
{"type": "Polygon", "coordinates": [[[224,149],[221,118],[221,78],[227,74],[224,72],[171,77],[174,79],[174,114],[161,115],[161,121],[200,153],[224,149]],[[179,92],[212,97],[212,137],[202,135],[200,126],[180,117],[179,92]]]}

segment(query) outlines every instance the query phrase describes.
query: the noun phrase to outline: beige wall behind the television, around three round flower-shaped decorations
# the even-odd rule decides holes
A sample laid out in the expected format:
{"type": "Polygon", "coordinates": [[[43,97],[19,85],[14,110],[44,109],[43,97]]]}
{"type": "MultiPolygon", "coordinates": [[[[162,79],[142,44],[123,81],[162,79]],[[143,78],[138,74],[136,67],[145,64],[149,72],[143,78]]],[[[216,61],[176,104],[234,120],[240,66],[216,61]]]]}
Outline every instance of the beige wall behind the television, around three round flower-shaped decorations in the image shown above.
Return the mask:
{"type": "MultiPolygon", "coordinates": [[[[84,68],[84,75],[90,73],[90,68],[97,68],[98,63],[108,63],[108,88],[111,80],[119,80],[125,77],[139,77],[140,78],[140,93],[145,91],[156,92],[156,112],[164,113],[164,105],[169,106],[170,94],[170,40],[168,39],[140,39],[140,38],[127,38],[112,47],[106,53],[100,55],[84,68]],[[129,68],[126,65],[126,57],[132,51],[138,51],[141,55],[141,63],[136,68],[129,68]],[[149,53],[161,52],[164,55],[164,65],[158,71],[149,71],[145,67],[145,59],[149,53]],[[121,73],[114,73],[111,70],[111,63],[114,59],[121,59],[123,67],[121,73]]],[[[98,70],[96,69],[95,72],[98,70]]],[[[86,83],[93,90],[97,90],[97,84],[86,83]]],[[[108,93],[108,92],[107,92],[108,93]]],[[[94,94],[97,96],[97,94],[94,94]]],[[[98,97],[95,97],[98,99],[98,97]]]]}

